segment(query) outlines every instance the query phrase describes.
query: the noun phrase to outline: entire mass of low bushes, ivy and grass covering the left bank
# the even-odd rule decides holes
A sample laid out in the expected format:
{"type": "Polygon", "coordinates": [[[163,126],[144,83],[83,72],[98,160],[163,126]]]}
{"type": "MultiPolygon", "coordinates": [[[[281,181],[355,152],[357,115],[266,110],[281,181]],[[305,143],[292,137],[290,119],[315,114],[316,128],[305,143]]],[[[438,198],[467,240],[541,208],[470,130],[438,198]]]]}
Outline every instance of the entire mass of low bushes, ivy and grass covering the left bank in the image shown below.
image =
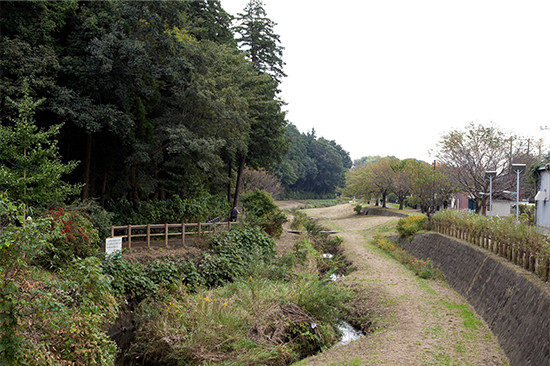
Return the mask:
{"type": "Polygon", "coordinates": [[[282,257],[261,227],[242,224],[193,257],[129,262],[98,257],[97,230],[82,212],[27,218],[23,206],[0,203],[8,364],[112,365],[119,350],[104,329],[127,309],[137,325],[129,360],[283,365],[331,346],[347,316],[351,292],[329,278],[343,270],[341,240],[319,236],[312,222],[282,257]],[[321,255],[329,252],[335,259],[321,255]]]}

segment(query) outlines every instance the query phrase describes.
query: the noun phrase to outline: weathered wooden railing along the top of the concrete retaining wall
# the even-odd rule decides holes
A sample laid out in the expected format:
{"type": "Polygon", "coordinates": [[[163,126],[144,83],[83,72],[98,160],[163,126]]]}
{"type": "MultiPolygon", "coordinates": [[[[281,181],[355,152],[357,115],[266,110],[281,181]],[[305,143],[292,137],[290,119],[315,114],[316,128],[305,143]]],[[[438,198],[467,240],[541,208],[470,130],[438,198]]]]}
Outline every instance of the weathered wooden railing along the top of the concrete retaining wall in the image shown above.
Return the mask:
{"type": "Polygon", "coordinates": [[[550,254],[534,251],[507,240],[496,240],[490,232],[474,233],[457,225],[435,222],[432,230],[464,240],[491,251],[510,262],[535,273],[543,281],[550,279],[550,254]]]}

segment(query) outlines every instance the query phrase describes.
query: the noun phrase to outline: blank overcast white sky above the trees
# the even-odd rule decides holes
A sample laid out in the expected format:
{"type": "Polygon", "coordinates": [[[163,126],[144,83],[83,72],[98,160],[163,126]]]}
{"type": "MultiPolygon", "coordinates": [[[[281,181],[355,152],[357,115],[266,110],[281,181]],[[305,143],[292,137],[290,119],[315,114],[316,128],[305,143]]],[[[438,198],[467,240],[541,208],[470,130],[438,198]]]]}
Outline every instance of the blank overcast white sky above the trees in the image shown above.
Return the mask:
{"type": "MultiPolygon", "coordinates": [[[[247,2],[221,0],[233,15],[247,2]]],[[[285,47],[287,119],[352,159],[431,161],[469,122],[550,141],[550,1],[264,4],[285,47]]]]}

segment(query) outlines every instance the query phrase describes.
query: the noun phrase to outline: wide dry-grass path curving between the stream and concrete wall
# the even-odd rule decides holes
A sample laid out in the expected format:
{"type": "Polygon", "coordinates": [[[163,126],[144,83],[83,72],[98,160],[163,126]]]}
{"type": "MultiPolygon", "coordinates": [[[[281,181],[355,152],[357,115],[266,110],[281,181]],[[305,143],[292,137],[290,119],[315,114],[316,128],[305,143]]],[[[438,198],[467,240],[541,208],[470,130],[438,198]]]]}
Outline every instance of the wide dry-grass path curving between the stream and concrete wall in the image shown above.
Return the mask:
{"type": "Polygon", "coordinates": [[[507,365],[486,324],[443,281],[423,280],[376,248],[396,218],[357,216],[349,204],[305,212],[338,230],[355,271],[346,278],[368,298],[373,332],[298,365],[507,365]]]}

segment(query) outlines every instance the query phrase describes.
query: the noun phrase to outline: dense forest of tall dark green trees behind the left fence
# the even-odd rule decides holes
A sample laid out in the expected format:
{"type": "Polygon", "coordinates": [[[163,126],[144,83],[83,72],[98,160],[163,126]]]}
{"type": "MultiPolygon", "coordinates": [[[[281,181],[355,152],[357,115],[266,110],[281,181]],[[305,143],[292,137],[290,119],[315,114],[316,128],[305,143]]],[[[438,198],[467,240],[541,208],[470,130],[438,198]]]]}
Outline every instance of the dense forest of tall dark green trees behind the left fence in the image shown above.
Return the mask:
{"type": "Polygon", "coordinates": [[[212,0],[1,7],[2,125],[27,100],[40,131],[58,126],[50,141],[82,199],[237,204],[245,167],[290,196],[343,186],[349,154],[286,120],[283,47],[261,2],[235,18],[212,0]]]}

